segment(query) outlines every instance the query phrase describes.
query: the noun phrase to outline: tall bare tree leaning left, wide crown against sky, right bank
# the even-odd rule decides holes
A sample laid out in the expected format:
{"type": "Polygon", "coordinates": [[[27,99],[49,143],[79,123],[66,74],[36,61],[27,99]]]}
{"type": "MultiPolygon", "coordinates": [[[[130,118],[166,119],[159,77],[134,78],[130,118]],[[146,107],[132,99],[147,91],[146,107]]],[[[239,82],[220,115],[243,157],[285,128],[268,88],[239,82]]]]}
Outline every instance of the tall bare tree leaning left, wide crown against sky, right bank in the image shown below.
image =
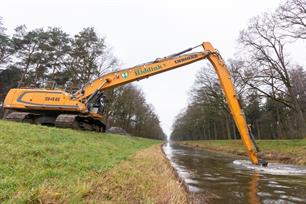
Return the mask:
{"type": "Polygon", "coordinates": [[[243,79],[253,89],[296,112],[299,136],[306,132],[305,119],[292,89],[289,70],[293,65],[286,55],[286,39],[279,23],[269,14],[253,18],[240,33],[244,67],[243,79]]]}

